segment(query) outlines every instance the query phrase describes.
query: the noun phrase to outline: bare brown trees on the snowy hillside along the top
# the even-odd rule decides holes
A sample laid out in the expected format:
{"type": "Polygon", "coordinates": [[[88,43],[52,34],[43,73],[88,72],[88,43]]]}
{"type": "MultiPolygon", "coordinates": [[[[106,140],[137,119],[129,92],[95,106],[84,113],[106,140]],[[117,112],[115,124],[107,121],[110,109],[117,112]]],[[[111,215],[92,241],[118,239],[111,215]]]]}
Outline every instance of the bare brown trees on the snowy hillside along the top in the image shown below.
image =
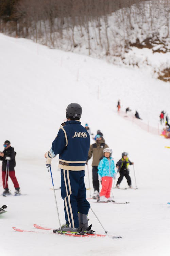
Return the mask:
{"type": "Polygon", "coordinates": [[[50,47],[120,55],[130,43],[169,38],[169,0],[1,0],[0,32],[50,47]]]}

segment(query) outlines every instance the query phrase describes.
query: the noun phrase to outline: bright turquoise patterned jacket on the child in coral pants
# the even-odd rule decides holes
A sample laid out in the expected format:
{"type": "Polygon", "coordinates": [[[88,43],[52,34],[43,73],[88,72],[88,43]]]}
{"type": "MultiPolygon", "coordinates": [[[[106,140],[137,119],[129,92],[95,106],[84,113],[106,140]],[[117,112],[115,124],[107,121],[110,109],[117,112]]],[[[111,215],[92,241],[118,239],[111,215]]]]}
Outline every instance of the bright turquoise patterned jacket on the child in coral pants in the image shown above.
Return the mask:
{"type": "Polygon", "coordinates": [[[98,174],[101,177],[113,177],[115,172],[115,163],[113,158],[110,159],[103,157],[98,165],[98,174]]]}

